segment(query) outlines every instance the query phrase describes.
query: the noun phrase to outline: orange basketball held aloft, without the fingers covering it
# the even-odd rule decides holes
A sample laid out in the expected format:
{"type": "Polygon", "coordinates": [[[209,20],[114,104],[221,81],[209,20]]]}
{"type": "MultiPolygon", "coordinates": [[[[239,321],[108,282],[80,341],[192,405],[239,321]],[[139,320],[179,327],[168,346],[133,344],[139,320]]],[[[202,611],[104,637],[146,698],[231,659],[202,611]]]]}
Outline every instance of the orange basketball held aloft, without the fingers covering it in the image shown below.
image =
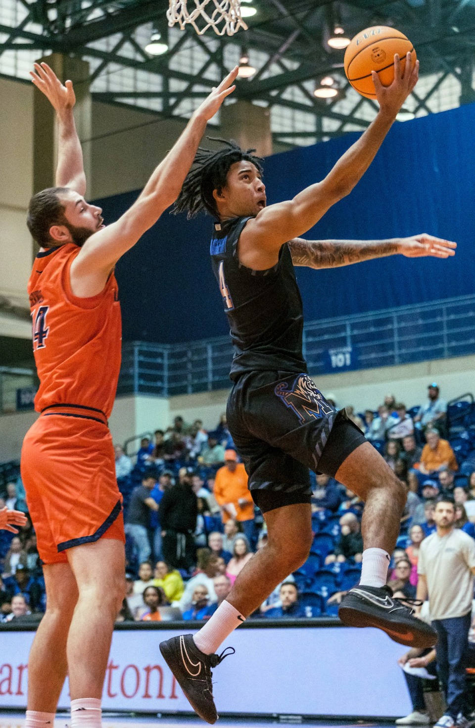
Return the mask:
{"type": "Polygon", "coordinates": [[[354,36],[345,52],[346,78],[354,89],[366,98],[376,98],[375,84],[371,71],[377,71],[383,86],[390,86],[394,81],[394,55],[399,54],[401,71],[406,66],[406,53],[410,52],[412,63],[415,63],[414,46],[404,33],[388,28],[386,25],[375,25],[354,36]]]}

